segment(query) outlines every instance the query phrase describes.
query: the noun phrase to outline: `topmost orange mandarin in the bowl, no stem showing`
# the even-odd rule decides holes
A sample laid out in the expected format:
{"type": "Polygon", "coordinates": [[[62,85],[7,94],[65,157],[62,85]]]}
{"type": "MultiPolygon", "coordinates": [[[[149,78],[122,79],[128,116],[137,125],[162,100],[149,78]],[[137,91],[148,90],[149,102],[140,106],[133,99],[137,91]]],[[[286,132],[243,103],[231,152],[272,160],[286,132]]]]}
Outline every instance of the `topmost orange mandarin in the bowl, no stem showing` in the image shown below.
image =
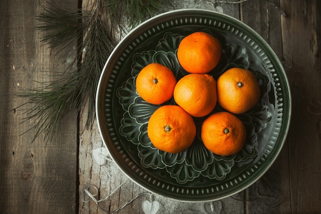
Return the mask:
{"type": "Polygon", "coordinates": [[[222,55],[222,45],[212,35],[195,32],[178,45],[179,64],[190,73],[208,73],[216,67],[222,55]]]}

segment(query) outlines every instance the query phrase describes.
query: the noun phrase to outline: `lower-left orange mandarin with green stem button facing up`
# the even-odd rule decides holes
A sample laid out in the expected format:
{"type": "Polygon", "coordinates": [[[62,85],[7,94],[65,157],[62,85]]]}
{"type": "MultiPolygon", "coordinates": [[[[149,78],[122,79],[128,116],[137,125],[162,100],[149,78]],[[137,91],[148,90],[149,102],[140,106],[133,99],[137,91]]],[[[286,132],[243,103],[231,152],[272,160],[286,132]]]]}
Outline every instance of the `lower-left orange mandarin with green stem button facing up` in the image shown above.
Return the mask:
{"type": "Polygon", "coordinates": [[[165,105],[151,115],[147,134],[152,144],[159,150],[177,153],[193,143],[196,126],[191,115],[183,108],[165,105]]]}

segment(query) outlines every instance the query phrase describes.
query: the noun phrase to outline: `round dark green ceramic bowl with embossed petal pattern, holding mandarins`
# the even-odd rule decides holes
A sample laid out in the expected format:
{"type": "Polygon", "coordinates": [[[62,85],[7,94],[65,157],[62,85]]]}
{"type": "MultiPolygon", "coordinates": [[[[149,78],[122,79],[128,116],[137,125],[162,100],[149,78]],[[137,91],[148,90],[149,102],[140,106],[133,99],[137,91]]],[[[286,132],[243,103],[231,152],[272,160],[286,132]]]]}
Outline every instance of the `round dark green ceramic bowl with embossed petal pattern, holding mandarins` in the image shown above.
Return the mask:
{"type": "MultiPolygon", "coordinates": [[[[217,104],[213,112],[217,111],[224,109],[217,104]]],[[[175,200],[205,202],[247,188],[268,170],[286,139],[291,96],[282,64],[254,30],[222,13],[183,9],[151,18],[117,45],[99,80],[96,115],[112,159],[135,183],[175,200]],[[146,103],[136,93],[136,75],[152,62],[171,68],[177,80],[186,75],[176,51],[179,42],[195,31],[210,33],[222,43],[218,66],[209,72],[215,79],[229,68],[241,67],[252,71],[260,85],[260,102],[237,115],[246,125],[246,145],[228,157],[213,154],[200,140],[206,116],[194,118],[196,138],[180,153],[156,149],[147,135],[148,120],[160,106],[146,103]]]]}

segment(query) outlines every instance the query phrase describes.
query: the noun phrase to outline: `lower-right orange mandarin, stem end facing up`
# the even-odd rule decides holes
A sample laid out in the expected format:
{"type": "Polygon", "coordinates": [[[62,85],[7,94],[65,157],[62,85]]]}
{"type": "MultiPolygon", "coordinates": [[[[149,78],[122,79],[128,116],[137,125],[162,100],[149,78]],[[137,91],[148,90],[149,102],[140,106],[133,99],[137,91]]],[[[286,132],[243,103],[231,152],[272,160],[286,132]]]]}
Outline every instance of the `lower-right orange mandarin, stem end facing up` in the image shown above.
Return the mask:
{"type": "Polygon", "coordinates": [[[240,151],[246,140],[246,129],[234,114],[221,111],[211,114],[203,123],[201,138],[205,147],[217,155],[240,151]]]}

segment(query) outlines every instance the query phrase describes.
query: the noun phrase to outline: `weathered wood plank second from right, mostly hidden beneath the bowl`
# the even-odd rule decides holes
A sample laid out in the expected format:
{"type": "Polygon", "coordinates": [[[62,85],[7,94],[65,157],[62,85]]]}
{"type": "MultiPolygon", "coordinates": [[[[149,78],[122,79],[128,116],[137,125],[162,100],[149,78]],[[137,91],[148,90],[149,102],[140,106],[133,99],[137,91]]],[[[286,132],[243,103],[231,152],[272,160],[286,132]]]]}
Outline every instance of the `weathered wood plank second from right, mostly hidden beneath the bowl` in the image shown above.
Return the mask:
{"type": "MultiPolygon", "coordinates": [[[[240,13],[241,20],[260,34],[277,56],[282,57],[281,18],[283,16],[275,6],[279,6],[277,0],[258,1],[256,4],[248,1],[242,4],[240,13]]],[[[288,201],[289,194],[283,191],[284,187],[288,187],[288,174],[280,174],[288,167],[286,154],[285,148],[269,171],[246,190],[247,213],[260,213],[263,210],[269,210],[268,213],[280,213],[280,203],[288,201]]]]}

